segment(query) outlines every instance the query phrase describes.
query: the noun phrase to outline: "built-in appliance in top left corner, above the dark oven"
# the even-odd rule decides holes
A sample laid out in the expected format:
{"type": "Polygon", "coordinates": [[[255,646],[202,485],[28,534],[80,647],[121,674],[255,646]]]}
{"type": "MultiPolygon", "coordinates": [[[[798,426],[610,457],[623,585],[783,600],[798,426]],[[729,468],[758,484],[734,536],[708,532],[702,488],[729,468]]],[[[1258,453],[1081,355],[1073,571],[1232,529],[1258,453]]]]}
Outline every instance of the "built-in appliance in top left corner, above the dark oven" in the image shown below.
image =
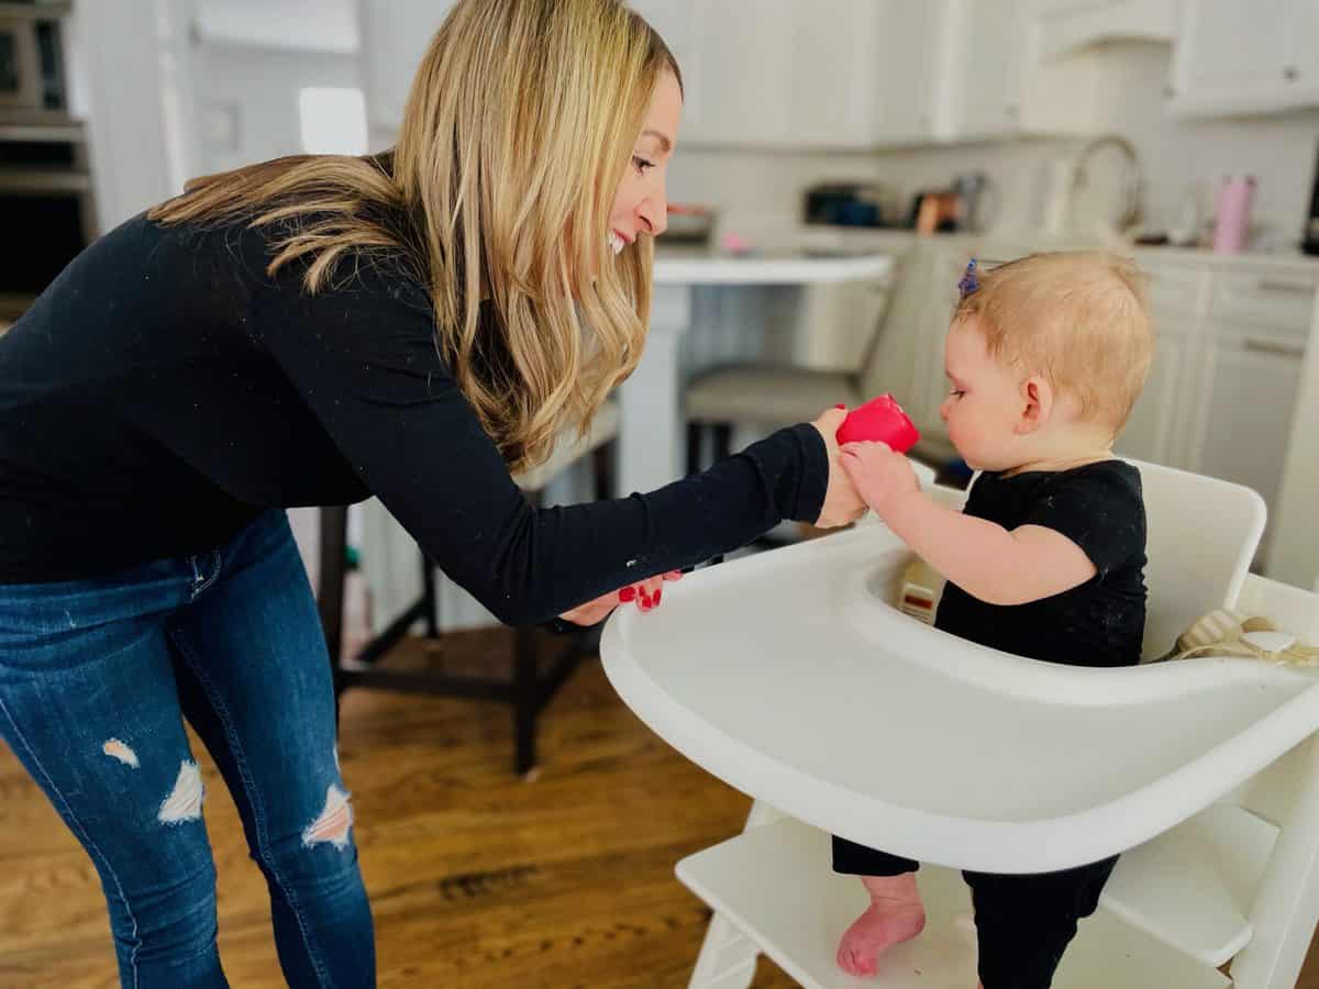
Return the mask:
{"type": "Polygon", "coordinates": [[[67,3],[0,4],[0,111],[61,109],[59,17],[67,3]]]}

